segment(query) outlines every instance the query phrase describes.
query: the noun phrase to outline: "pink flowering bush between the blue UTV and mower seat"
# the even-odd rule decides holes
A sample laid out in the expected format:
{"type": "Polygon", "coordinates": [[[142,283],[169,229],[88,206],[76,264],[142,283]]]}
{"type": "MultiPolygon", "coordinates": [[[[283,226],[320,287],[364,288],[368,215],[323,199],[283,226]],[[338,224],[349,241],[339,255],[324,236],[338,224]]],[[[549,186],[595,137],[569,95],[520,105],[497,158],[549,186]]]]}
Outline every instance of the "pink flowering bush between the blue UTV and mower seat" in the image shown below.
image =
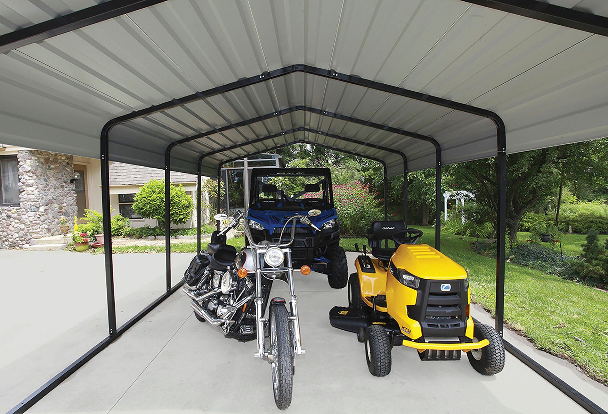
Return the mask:
{"type": "Polygon", "coordinates": [[[376,188],[361,182],[334,184],[332,188],[342,235],[365,235],[372,221],[384,217],[379,207],[384,200],[377,198],[376,188]]]}

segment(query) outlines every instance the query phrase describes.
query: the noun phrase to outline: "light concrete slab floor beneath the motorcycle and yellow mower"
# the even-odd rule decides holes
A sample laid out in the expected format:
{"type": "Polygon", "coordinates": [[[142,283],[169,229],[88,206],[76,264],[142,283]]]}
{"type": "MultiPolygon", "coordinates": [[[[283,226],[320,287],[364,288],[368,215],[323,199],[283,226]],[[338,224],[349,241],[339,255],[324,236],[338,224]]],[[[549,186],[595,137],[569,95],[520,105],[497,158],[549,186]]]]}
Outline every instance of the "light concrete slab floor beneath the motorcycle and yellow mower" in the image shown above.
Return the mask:
{"type": "MultiPolygon", "coordinates": [[[[354,256],[348,254],[349,263],[354,256]]],[[[275,284],[274,295],[286,286],[275,284]]],[[[364,345],[351,333],[332,328],[328,311],[347,303],[345,289],[333,290],[323,275],[297,278],[304,356],[297,357],[293,413],[382,411],[432,413],[584,413],[572,400],[507,354],[494,377],[475,372],[466,356],[454,362],[421,362],[415,351],[393,348],[393,370],[370,375],[364,345]]],[[[55,388],[32,413],[198,413],[272,412],[271,371],[254,358],[255,343],[226,339],[198,322],[178,292],[106,350],[55,388]]],[[[489,316],[475,309],[484,322],[489,316]]],[[[527,352],[530,345],[508,339],[527,352]]],[[[535,355],[536,357],[536,355],[535,355]]],[[[544,356],[550,370],[594,401],[608,393],[572,366],[544,356]]]]}

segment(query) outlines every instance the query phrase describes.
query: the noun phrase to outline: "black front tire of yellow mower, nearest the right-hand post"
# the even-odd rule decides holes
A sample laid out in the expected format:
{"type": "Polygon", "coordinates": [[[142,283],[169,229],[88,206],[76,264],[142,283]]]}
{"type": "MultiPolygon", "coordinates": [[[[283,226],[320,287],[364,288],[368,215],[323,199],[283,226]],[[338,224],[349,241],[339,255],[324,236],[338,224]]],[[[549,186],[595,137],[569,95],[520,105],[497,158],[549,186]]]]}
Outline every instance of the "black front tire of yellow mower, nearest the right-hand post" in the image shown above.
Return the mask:
{"type": "Polygon", "coordinates": [[[483,375],[494,375],[502,371],[505,367],[505,345],[496,329],[485,325],[477,319],[473,328],[474,340],[482,341],[487,339],[489,345],[477,351],[469,351],[466,356],[475,371],[483,375]]]}

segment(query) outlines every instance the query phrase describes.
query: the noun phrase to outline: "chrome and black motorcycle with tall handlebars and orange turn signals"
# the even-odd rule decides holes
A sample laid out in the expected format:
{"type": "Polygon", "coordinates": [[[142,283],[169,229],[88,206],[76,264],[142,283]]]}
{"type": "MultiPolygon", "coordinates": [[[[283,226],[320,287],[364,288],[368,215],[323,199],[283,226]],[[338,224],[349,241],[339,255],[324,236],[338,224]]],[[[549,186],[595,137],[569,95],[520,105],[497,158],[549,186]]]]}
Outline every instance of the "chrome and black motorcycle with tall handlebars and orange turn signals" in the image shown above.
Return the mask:
{"type": "Polygon", "coordinates": [[[190,305],[196,319],[219,326],[226,337],[257,339],[255,357],[271,364],[275,404],[282,410],[291,404],[294,357],[305,353],[300,340],[294,272],[307,275],[311,271],[306,265],[292,267],[289,246],[294,241],[295,223],[299,220],[314,228],[309,217],[319,214],[320,210],[310,210],[308,215],[286,218],[277,243],[254,243],[249,224],[244,221],[249,247],[240,254],[226,244],[226,235],[240,224],[243,213],[216,215],[216,220],[227,221],[226,227],[212,233],[206,252],[199,252],[184,274],[182,290],[192,299],[190,305]],[[283,233],[290,223],[291,237],[283,243],[283,233]],[[289,311],[285,298],[269,300],[275,280],[289,286],[289,311]],[[268,317],[264,317],[267,307],[268,317]]]}

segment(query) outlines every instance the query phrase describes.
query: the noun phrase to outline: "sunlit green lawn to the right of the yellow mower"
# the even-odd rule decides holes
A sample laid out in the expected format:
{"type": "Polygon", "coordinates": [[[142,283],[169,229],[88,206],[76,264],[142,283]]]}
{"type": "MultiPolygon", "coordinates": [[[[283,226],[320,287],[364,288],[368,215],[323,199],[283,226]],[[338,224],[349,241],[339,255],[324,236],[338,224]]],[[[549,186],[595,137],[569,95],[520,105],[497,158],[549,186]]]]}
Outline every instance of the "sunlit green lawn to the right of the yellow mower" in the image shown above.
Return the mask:
{"type": "MultiPolygon", "coordinates": [[[[433,246],[433,227],[416,228],[425,232],[423,243],[433,246]]],[[[475,254],[471,250],[474,240],[444,234],[441,251],[465,267],[471,280],[472,300],[493,313],[496,260],[475,254]]],[[[584,235],[564,236],[564,253],[578,254],[582,240],[584,235]]],[[[354,250],[354,243],[361,246],[367,240],[351,238],[341,242],[347,250],[354,250]]],[[[589,376],[608,385],[607,292],[507,263],[505,322],[533,340],[537,348],[575,362],[589,376]]]]}

